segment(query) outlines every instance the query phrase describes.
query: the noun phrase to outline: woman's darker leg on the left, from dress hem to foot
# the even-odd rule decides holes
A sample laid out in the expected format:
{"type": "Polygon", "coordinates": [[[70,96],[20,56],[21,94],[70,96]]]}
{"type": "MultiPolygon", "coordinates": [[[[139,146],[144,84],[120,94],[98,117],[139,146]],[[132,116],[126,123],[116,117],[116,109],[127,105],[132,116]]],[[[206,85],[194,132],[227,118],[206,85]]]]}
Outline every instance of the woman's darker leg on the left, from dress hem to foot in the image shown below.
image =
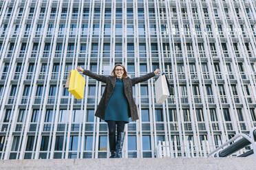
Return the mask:
{"type": "Polygon", "coordinates": [[[116,156],[116,121],[107,121],[109,127],[109,149],[111,156],[109,158],[114,158],[116,156]]]}

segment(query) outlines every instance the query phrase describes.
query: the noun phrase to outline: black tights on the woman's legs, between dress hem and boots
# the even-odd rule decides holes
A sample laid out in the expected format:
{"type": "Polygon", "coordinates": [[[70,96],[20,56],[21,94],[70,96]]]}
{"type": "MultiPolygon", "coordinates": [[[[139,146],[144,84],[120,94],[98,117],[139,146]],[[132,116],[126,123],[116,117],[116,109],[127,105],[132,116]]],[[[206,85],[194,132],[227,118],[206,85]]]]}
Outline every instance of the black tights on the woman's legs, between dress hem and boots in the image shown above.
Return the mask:
{"type": "Polygon", "coordinates": [[[125,130],[125,122],[123,121],[107,121],[107,125],[109,127],[109,149],[113,151],[116,149],[116,125],[117,132],[124,132],[125,130]]]}

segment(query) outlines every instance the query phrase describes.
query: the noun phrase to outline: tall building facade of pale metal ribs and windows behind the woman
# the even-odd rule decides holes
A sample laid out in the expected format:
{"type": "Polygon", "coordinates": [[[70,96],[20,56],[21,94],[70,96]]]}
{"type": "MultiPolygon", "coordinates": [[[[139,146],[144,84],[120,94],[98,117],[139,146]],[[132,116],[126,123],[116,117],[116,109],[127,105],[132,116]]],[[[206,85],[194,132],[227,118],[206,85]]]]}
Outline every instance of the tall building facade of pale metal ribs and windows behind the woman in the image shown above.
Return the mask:
{"type": "MultiPolygon", "coordinates": [[[[125,127],[123,158],[204,157],[256,126],[256,1],[0,1],[0,159],[108,158],[107,123],[94,117],[105,84],[85,97],[64,88],[71,69],[131,77],[140,119],[125,127]]],[[[250,149],[250,148],[246,148],[250,149]]],[[[237,152],[242,154],[242,151],[237,152]]]]}

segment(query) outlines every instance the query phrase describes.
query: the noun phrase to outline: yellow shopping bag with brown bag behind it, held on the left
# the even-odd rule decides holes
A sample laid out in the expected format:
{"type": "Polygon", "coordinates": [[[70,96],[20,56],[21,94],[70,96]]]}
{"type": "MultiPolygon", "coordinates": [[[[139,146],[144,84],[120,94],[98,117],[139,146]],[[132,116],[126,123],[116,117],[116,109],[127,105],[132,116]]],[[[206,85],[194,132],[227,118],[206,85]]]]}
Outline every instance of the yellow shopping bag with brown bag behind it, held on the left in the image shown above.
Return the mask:
{"type": "Polygon", "coordinates": [[[85,92],[85,78],[78,73],[77,70],[70,71],[68,75],[65,87],[68,91],[76,97],[76,99],[83,99],[83,94],[85,92]]]}

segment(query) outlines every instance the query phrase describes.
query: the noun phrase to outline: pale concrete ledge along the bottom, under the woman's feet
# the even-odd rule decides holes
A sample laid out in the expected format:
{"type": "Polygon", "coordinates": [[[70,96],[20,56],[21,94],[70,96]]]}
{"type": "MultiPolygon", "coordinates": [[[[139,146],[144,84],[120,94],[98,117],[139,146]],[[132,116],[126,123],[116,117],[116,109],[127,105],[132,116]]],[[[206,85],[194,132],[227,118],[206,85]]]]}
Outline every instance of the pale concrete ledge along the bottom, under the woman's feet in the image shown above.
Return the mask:
{"type": "Polygon", "coordinates": [[[0,160],[0,169],[256,169],[256,158],[0,160]]]}

